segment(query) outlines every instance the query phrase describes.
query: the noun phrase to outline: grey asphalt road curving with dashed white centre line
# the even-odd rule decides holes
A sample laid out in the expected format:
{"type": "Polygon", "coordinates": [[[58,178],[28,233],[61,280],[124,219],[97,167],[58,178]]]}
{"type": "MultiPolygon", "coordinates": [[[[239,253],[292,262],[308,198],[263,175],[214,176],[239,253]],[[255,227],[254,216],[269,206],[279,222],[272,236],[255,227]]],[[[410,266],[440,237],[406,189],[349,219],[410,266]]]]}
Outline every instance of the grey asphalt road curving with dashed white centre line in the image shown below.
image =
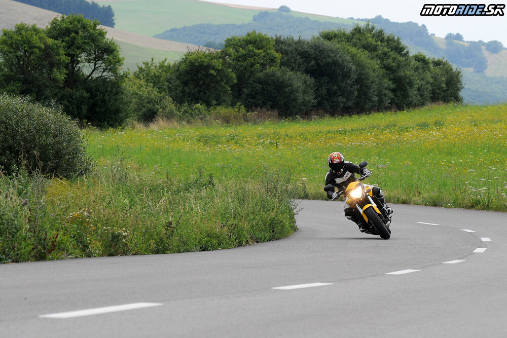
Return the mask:
{"type": "Polygon", "coordinates": [[[382,240],[300,208],[243,248],[0,265],[0,337],[507,336],[507,213],[394,205],[382,240]]]}

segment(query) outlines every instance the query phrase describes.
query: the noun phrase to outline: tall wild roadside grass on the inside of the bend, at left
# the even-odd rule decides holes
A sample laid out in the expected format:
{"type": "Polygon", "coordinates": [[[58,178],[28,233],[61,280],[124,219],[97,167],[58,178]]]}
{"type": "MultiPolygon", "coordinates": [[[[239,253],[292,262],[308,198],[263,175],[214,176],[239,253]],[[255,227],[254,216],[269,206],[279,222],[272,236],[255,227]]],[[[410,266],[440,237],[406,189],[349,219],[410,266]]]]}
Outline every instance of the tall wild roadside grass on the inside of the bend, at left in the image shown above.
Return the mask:
{"type": "Polygon", "coordinates": [[[296,230],[296,187],[280,172],[161,178],[113,157],[74,181],[22,170],[0,178],[0,261],[226,249],[296,230]]]}

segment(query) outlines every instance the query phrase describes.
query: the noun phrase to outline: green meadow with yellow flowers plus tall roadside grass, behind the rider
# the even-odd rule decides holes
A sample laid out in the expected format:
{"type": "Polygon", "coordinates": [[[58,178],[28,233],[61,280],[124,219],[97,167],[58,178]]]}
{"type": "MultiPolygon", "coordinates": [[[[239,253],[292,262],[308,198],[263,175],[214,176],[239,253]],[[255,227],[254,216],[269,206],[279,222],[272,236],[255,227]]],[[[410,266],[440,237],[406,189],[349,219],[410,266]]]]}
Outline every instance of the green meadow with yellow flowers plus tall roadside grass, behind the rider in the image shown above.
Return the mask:
{"type": "MultiPolygon", "coordinates": [[[[93,173],[0,175],[2,260],[231,248],[296,230],[325,159],[369,161],[389,203],[507,211],[505,105],[84,130],[93,173]]],[[[334,203],[334,202],[329,202],[334,203]]],[[[336,207],[340,206],[336,204],[336,207]]]]}

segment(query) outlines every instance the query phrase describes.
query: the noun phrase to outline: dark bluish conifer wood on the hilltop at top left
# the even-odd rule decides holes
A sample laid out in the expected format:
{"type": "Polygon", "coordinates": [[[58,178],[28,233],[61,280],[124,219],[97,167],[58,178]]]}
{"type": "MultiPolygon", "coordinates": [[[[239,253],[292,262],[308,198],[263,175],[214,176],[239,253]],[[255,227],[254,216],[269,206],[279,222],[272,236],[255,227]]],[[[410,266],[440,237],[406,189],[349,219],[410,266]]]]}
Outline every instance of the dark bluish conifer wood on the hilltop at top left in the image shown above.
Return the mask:
{"type": "Polygon", "coordinates": [[[111,6],[100,6],[86,0],[14,0],[19,3],[43,8],[45,10],[69,14],[83,14],[87,19],[97,19],[107,27],[115,26],[115,13],[111,6]]]}

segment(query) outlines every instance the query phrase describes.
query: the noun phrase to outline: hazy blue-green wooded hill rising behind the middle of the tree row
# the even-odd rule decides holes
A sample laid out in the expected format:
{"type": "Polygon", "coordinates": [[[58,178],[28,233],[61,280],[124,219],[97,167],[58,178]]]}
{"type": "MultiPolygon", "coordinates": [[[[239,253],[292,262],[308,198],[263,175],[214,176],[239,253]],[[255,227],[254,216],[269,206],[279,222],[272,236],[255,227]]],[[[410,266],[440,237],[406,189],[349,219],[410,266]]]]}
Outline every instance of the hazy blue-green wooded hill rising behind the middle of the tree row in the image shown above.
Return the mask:
{"type": "MultiPolygon", "coordinates": [[[[290,10],[289,10],[290,11],[290,10]]],[[[181,28],[172,28],[155,37],[170,41],[191,43],[209,48],[222,49],[225,40],[230,36],[244,35],[250,31],[257,31],[269,36],[293,35],[310,39],[321,30],[336,28],[352,28],[331,21],[311,20],[308,17],[299,18],[285,14],[283,6],[277,12],[263,11],[252,18],[252,22],[244,24],[197,24],[181,28]]]]}

